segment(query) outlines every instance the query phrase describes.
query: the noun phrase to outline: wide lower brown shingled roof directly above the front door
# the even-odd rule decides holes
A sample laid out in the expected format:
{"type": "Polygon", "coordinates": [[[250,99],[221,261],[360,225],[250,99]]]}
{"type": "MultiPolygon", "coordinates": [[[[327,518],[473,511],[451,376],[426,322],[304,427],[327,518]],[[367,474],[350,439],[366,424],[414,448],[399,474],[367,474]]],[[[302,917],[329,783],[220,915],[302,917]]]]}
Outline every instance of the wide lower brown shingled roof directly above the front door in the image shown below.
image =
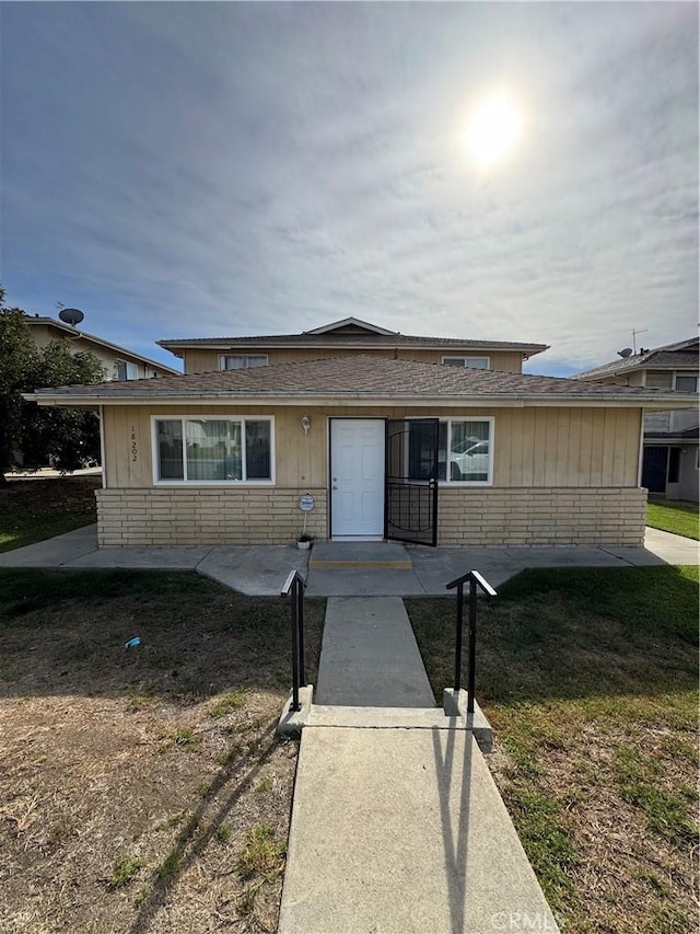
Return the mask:
{"type": "Polygon", "coordinates": [[[244,370],[39,389],[27,397],[65,405],[81,402],[143,404],[174,400],[259,402],[284,397],[285,401],[317,401],[318,404],[324,400],[372,404],[390,401],[404,401],[406,404],[470,404],[487,401],[498,404],[509,401],[512,404],[518,400],[536,401],[539,404],[555,400],[556,404],[561,404],[570,400],[576,404],[587,400],[645,407],[663,402],[668,407],[668,402],[679,396],[667,390],[352,355],[244,370]]]}

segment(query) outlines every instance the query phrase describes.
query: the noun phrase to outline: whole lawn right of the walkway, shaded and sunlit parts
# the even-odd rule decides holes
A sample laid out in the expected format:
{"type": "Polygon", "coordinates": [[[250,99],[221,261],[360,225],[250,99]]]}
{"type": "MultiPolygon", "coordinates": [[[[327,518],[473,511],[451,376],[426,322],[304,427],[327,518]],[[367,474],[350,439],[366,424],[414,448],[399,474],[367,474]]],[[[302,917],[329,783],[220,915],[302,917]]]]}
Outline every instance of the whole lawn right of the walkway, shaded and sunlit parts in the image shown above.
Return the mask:
{"type": "MultiPolygon", "coordinates": [[[[454,602],[406,603],[441,699],[454,602]]],[[[697,620],[697,567],[529,570],[480,607],[487,761],[565,932],[696,927],[697,620]]]]}

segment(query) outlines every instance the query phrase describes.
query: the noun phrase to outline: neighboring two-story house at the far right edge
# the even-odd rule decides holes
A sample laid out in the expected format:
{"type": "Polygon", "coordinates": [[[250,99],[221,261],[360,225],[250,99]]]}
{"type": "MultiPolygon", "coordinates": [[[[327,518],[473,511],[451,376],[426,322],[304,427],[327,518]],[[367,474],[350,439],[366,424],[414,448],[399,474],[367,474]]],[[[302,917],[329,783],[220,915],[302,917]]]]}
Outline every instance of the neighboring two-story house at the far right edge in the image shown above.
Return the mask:
{"type": "MultiPolygon", "coordinates": [[[[700,357],[697,337],[640,350],[611,364],[578,373],[575,379],[607,384],[673,390],[698,399],[700,357]]],[[[629,354],[629,351],[627,351],[629,354]]],[[[668,499],[698,501],[698,406],[690,411],[654,412],[644,418],[642,486],[668,499]]]]}

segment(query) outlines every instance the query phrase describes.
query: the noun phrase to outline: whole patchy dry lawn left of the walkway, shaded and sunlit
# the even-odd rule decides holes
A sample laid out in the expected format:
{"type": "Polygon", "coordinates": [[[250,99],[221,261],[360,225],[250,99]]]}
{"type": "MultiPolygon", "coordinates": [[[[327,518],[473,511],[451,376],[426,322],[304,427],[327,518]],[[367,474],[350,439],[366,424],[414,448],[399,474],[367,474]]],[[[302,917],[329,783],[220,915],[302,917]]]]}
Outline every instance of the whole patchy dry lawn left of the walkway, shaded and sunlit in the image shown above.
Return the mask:
{"type": "Polygon", "coordinates": [[[194,574],[0,572],[0,931],[276,930],[289,632],[194,574]]]}

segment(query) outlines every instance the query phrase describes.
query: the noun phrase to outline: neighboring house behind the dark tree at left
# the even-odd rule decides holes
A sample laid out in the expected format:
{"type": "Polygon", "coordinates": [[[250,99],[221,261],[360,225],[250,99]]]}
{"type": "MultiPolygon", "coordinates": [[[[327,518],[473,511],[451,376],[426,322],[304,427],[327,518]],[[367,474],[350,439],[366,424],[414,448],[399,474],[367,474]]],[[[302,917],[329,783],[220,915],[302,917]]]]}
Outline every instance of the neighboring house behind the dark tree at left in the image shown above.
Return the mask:
{"type": "Polygon", "coordinates": [[[166,367],[149,357],[142,357],[140,354],[135,354],[133,350],[127,350],[125,347],[119,347],[117,344],[112,344],[102,337],[95,337],[94,334],[88,334],[52,318],[38,314],[26,315],[26,322],[31,327],[34,343],[39,349],[46,347],[51,341],[70,341],[75,353],[90,350],[97,357],[107,380],[151,379],[153,377],[175,376],[179,372],[179,370],[166,367]]]}

